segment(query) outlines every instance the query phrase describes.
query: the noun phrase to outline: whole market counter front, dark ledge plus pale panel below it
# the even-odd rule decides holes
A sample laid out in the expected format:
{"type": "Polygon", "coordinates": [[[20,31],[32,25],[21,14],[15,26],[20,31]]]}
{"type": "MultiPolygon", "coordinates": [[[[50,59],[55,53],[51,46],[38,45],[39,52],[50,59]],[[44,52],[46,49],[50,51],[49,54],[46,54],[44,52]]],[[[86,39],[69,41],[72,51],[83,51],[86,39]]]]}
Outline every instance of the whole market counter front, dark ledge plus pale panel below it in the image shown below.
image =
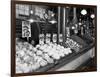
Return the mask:
{"type": "Polygon", "coordinates": [[[75,70],[77,67],[86,62],[89,58],[93,57],[94,45],[91,44],[83,48],[80,52],[65,56],[64,58],[57,61],[55,64],[50,64],[42,67],[35,72],[49,72],[49,71],[64,71],[64,70],[75,70]]]}

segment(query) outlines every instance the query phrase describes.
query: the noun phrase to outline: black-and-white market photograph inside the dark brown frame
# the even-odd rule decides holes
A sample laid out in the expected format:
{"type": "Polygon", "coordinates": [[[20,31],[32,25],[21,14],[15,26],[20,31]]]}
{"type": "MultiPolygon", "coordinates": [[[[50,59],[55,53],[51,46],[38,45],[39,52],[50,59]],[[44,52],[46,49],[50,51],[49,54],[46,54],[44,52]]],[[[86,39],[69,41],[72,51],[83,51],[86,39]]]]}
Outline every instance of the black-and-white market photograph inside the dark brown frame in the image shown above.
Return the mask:
{"type": "Polygon", "coordinates": [[[96,70],[96,7],[84,6],[16,3],[15,73],[96,70]]]}

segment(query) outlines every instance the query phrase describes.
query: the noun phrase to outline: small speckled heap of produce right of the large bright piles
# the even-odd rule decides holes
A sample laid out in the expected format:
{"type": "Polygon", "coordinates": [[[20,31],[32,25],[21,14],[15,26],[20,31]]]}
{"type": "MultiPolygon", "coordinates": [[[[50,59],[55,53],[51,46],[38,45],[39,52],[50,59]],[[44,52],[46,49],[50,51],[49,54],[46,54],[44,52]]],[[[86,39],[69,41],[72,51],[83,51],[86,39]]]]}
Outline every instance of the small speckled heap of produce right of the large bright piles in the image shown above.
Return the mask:
{"type": "Polygon", "coordinates": [[[79,45],[77,42],[75,42],[74,40],[70,38],[67,38],[65,44],[67,47],[73,49],[76,52],[79,52],[79,50],[82,48],[82,45],[79,45]]]}

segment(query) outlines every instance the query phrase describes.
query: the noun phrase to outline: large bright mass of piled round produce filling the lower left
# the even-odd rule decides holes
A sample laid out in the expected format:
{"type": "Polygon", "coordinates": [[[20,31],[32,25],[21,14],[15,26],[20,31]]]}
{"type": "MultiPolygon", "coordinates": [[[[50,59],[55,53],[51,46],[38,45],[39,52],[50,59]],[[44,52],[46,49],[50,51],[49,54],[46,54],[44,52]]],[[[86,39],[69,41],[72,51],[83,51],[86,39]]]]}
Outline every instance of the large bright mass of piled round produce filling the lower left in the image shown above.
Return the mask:
{"type": "Polygon", "coordinates": [[[70,48],[48,43],[33,47],[28,42],[16,42],[16,72],[34,72],[72,53],[70,48]]]}

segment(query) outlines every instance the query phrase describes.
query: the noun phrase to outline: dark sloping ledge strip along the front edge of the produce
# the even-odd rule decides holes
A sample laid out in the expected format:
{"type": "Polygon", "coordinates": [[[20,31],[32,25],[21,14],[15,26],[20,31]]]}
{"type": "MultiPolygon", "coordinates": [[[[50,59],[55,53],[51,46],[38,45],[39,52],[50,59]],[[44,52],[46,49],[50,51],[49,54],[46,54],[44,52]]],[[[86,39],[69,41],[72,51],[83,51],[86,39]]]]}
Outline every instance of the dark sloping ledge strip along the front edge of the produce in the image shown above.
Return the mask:
{"type": "Polygon", "coordinates": [[[61,58],[56,63],[52,63],[52,64],[48,64],[48,65],[46,65],[44,67],[40,67],[39,69],[37,69],[34,72],[50,72],[50,71],[55,71],[55,70],[61,68],[62,66],[66,65],[67,63],[70,63],[71,61],[75,60],[76,58],[82,56],[83,54],[88,52],[92,47],[94,47],[94,44],[90,44],[88,47],[85,47],[85,48],[81,49],[81,51],[78,52],[78,53],[73,51],[71,54],[61,58]]]}

